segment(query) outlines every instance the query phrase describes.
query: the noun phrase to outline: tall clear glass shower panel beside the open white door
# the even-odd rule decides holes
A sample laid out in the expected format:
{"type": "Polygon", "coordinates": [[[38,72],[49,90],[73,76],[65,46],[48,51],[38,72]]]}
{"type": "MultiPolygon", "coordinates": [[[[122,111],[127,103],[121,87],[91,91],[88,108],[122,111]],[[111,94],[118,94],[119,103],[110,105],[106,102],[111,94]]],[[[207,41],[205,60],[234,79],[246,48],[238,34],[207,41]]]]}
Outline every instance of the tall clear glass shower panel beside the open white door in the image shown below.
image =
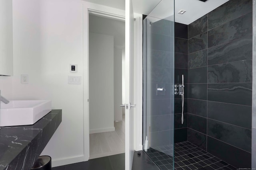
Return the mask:
{"type": "Polygon", "coordinates": [[[143,20],[143,149],[160,169],[174,169],[174,0],[143,20]]]}

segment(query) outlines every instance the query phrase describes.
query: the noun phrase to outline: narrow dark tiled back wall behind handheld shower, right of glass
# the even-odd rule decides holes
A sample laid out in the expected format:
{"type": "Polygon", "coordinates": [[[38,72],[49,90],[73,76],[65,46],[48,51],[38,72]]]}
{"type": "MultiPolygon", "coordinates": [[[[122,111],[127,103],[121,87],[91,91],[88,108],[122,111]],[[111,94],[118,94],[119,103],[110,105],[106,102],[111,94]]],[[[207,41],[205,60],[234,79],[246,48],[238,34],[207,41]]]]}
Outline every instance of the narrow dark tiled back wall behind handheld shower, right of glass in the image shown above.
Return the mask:
{"type": "MultiPolygon", "coordinates": [[[[188,83],[188,25],[174,23],[174,84],[182,84],[182,74],[184,74],[184,83],[188,83]]],[[[190,63],[196,65],[196,56],[190,63]]],[[[181,124],[182,100],[177,95],[174,99],[174,143],[187,141],[187,106],[188,106],[188,89],[184,89],[184,123],[181,124]]]]}

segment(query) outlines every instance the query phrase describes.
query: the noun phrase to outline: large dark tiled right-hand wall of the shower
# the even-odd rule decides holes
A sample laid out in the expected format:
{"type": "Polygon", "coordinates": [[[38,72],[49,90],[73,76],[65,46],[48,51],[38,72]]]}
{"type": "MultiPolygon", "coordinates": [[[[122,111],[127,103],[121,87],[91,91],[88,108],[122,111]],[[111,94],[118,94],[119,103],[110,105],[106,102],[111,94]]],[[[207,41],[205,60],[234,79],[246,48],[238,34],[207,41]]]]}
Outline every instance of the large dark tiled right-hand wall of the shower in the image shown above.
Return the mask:
{"type": "Polygon", "coordinates": [[[230,0],[188,25],[188,141],[237,168],[256,164],[252,16],[252,0],[230,0]]]}

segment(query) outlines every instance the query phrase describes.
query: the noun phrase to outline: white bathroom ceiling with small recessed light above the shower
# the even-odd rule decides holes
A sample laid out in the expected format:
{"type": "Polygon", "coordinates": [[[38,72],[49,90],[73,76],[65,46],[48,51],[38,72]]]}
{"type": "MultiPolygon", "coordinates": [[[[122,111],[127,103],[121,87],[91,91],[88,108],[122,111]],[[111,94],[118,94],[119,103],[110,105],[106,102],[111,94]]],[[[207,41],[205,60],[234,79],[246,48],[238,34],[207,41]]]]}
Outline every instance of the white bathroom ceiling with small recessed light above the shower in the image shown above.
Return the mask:
{"type": "MultiPolygon", "coordinates": [[[[125,0],[84,0],[95,4],[110,6],[121,10],[125,9],[125,0]]],[[[166,15],[173,15],[174,0],[132,0],[134,12],[138,14],[148,15],[160,3],[157,8],[150,14],[157,18],[166,15]],[[169,14],[167,14],[169,13],[169,14]]],[[[207,0],[202,2],[200,0],[175,0],[175,21],[184,24],[190,24],[198,18],[204,16],[208,12],[221,6],[228,0],[207,0]],[[178,11],[186,10],[184,14],[178,14],[178,11]]]]}

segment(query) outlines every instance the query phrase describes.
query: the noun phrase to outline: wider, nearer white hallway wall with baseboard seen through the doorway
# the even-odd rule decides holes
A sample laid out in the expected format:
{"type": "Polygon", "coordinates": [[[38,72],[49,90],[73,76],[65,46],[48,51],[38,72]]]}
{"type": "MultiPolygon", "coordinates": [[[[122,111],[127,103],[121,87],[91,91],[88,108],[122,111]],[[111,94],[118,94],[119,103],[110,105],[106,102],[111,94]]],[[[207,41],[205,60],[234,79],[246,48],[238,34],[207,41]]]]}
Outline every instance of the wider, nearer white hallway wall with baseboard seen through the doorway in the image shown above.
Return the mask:
{"type": "Polygon", "coordinates": [[[114,37],[89,33],[90,133],[114,131],[114,37]]]}

